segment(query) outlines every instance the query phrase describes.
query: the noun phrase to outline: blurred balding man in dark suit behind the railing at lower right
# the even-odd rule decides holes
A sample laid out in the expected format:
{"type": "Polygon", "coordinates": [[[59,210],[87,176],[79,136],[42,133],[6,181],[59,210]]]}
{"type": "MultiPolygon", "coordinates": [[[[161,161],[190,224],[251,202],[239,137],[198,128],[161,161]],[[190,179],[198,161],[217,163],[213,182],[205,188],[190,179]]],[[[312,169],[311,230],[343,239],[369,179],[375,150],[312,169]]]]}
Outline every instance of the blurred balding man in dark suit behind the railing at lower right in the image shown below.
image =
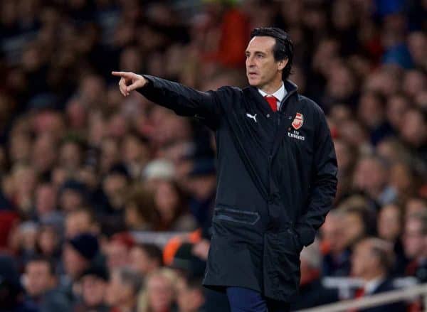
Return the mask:
{"type": "MultiPolygon", "coordinates": [[[[352,275],[364,281],[364,287],[356,291],[355,297],[371,296],[396,288],[389,279],[394,264],[393,245],[378,238],[366,238],[354,247],[352,254],[352,275]]],[[[382,306],[360,309],[359,312],[406,311],[404,302],[388,303],[382,306]]]]}

